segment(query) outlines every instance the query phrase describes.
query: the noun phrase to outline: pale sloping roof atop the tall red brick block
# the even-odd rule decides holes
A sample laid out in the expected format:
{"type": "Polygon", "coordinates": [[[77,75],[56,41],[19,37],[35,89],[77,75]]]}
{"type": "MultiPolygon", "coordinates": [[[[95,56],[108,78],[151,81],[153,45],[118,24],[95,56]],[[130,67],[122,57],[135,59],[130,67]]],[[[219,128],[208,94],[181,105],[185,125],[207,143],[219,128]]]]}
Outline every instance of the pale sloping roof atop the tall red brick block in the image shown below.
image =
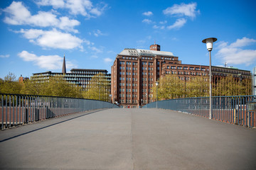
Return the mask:
{"type": "Polygon", "coordinates": [[[144,49],[135,49],[135,48],[125,48],[119,55],[130,55],[130,56],[140,56],[140,55],[147,55],[147,56],[169,56],[174,57],[172,52],[164,52],[164,51],[155,51],[155,50],[144,50],[144,49]]]}

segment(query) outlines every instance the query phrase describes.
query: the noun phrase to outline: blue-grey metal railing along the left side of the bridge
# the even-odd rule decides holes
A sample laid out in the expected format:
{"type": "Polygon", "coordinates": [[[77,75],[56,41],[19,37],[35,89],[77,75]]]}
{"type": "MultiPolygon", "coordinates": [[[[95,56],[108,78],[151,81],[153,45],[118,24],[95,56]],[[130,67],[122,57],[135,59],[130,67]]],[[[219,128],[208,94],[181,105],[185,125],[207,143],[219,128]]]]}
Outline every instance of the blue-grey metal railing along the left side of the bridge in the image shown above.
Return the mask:
{"type": "Polygon", "coordinates": [[[97,108],[118,108],[105,101],[56,96],[0,94],[0,128],[23,125],[97,108]]]}

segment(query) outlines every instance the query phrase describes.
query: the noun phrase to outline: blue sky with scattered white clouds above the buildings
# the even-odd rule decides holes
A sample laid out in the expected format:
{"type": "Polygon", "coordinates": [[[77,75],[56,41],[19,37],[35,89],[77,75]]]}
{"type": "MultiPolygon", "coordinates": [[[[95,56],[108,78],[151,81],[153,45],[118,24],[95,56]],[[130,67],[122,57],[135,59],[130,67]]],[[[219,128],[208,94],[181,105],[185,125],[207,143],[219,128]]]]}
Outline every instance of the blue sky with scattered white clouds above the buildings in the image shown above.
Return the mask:
{"type": "Polygon", "coordinates": [[[107,69],[124,48],[156,41],[183,64],[208,65],[202,43],[215,37],[212,64],[256,67],[256,1],[0,1],[0,78],[107,69]]]}

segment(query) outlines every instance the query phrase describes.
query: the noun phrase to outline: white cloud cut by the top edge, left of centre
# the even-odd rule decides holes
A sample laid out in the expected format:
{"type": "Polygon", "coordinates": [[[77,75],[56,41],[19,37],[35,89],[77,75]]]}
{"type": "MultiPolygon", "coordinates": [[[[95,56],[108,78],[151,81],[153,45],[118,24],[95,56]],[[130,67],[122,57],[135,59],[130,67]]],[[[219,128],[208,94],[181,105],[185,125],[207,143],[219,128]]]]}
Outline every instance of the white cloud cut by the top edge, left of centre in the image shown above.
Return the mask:
{"type": "Polygon", "coordinates": [[[101,16],[107,8],[107,4],[100,3],[93,6],[90,0],[39,0],[39,6],[53,6],[53,8],[67,8],[73,15],[82,15],[87,18],[101,16]]]}

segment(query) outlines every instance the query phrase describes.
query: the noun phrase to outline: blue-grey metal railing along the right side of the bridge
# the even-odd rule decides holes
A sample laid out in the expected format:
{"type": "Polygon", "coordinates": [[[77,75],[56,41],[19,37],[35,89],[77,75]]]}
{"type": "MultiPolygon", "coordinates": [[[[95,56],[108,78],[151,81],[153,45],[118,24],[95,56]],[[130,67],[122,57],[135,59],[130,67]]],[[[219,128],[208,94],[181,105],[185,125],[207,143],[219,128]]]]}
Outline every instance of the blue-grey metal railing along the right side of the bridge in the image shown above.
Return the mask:
{"type": "MultiPolygon", "coordinates": [[[[256,111],[249,111],[248,103],[256,102],[256,96],[218,96],[212,97],[212,118],[227,123],[256,127],[256,111]]],[[[209,97],[177,98],[157,101],[158,108],[181,111],[209,118],[209,97]]],[[[156,102],[144,108],[156,108],[156,102]]]]}

